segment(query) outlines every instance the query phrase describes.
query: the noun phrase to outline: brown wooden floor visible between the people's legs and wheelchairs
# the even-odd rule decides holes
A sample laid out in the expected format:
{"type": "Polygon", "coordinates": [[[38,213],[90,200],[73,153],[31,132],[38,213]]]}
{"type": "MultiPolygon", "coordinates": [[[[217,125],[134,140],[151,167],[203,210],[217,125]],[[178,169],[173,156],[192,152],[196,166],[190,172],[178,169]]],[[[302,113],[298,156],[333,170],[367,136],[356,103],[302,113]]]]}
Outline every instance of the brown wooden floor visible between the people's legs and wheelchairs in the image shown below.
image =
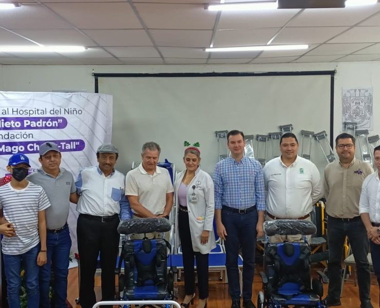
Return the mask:
{"type": "MultiPolygon", "coordinates": [[[[318,269],[318,268],[314,268],[318,269]]],[[[258,275],[259,268],[257,267],[255,277],[254,277],[254,285],[253,285],[253,302],[256,304],[257,294],[261,290],[261,279],[258,275]]],[[[373,276],[373,275],[372,275],[373,276]]],[[[216,273],[212,273],[210,275],[210,300],[208,301],[208,308],[221,308],[221,307],[230,307],[231,300],[228,294],[227,284],[224,282],[220,282],[217,279],[216,273]]],[[[100,300],[100,277],[96,277],[96,294],[98,300],[100,300]]],[[[379,307],[379,288],[377,286],[377,280],[372,277],[372,285],[371,285],[371,300],[372,305],[376,308],[379,307]]],[[[177,284],[179,290],[179,298],[176,299],[178,302],[181,302],[184,296],[184,286],[183,282],[179,282],[177,284]]],[[[75,308],[79,308],[80,305],[75,304],[75,298],[78,297],[78,268],[71,268],[69,270],[68,277],[68,300],[71,305],[75,308]]],[[[327,294],[327,285],[325,285],[325,294],[327,294]]],[[[197,298],[194,302],[193,308],[197,305],[197,298]]],[[[341,298],[342,308],[359,308],[360,301],[358,297],[358,288],[354,286],[354,283],[351,281],[346,281],[344,285],[343,296],[341,298]]]]}

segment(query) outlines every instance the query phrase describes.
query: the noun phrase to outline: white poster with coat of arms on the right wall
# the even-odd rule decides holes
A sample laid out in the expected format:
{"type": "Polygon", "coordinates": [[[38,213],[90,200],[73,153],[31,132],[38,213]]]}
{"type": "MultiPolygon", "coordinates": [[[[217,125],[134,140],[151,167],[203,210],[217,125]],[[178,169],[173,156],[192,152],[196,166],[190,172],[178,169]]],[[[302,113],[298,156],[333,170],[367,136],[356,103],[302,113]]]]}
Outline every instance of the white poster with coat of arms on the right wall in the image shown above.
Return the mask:
{"type": "Polygon", "coordinates": [[[342,88],[342,125],[356,123],[356,129],[373,130],[373,88],[342,88]]]}

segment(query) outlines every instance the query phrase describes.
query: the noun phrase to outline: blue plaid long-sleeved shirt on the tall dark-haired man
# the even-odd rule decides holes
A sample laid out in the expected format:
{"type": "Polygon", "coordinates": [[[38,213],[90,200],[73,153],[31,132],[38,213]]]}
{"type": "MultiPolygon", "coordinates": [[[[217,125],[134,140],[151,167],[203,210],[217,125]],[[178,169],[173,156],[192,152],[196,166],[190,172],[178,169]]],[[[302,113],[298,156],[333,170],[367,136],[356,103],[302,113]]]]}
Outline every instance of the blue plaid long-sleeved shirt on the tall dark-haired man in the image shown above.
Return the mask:
{"type": "Polygon", "coordinates": [[[258,161],[243,157],[237,162],[232,157],[217,163],[214,171],[215,209],[222,205],[248,208],[256,205],[265,211],[265,191],[262,168],[258,161]]]}

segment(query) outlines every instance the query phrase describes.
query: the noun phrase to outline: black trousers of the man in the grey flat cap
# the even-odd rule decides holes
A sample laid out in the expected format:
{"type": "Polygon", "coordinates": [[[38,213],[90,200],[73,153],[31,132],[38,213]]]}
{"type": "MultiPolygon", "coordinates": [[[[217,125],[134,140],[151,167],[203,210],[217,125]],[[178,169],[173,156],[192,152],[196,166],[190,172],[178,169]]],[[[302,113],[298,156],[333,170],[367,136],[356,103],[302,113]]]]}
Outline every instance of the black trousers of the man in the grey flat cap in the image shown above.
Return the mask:
{"type": "Polygon", "coordinates": [[[115,267],[120,239],[118,224],[118,216],[111,221],[100,222],[79,215],[77,238],[81,262],[79,297],[82,308],[91,308],[97,302],[94,275],[99,253],[102,268],[102,300],[115,300],[115,267]]]}

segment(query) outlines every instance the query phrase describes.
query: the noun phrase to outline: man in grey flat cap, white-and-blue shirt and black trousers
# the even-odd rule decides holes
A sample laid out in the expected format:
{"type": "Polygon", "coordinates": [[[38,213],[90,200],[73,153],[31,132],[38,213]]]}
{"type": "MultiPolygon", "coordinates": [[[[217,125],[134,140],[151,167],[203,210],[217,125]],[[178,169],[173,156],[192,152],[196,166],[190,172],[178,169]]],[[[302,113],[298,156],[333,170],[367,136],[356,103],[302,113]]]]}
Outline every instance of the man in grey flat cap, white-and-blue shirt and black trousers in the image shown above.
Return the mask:
{"type": "Polygon", "coordinates": [[[118,157],[119,150],[114,145],[102,144],[97,150],[99,165],[82,169],[75,182],[77,194],[80,195],[77,238],[82,308],[91,308],[97,302],[93,288],[99,253],[102,300],[115,298],[115,267],[119,248],[117,227],[120,219],[130,218],[128,200],[124,195],[124,175],[114,168],[118,157]]]}

